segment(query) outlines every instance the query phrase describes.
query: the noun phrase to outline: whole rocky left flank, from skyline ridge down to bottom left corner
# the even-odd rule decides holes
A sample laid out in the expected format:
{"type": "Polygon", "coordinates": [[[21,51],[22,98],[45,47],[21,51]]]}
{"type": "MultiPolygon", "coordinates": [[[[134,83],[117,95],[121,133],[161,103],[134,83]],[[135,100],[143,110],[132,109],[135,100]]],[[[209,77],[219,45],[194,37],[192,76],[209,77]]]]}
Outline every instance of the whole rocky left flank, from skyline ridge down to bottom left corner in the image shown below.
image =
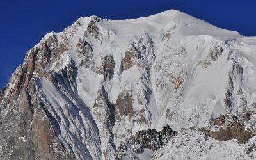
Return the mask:
{"type": "Polygon", "coordinates": [[[33,74],[45,73],[49,60],[57,60],[63,50],[55,36],[31,49],[23,65],[13,73],[1,95],[1,159],[73,159],[52,127],[51,117],[38,94],[33,74]],[[41,63],[44,61],[44,64],[41,63]],[[39,67],[40,66],[40,67],[39,67]]]}

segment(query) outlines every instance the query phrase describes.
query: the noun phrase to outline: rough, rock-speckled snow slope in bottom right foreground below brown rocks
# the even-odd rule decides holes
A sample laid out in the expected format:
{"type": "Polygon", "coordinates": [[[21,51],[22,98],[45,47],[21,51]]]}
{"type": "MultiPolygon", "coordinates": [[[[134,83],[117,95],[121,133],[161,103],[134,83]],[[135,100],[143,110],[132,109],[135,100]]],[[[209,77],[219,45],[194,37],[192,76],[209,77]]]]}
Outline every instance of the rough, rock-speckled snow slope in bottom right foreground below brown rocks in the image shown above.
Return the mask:
{"type": "MultiPolygon", "coordinates": [[[[236,140],[218,141],[202,132],[182,130],[166,146],[152,155],[152,159],[250,159],[244,152],[248,145],[236,140]]],[[[255,142],[252,138],[248,144],[255,142]]]]}

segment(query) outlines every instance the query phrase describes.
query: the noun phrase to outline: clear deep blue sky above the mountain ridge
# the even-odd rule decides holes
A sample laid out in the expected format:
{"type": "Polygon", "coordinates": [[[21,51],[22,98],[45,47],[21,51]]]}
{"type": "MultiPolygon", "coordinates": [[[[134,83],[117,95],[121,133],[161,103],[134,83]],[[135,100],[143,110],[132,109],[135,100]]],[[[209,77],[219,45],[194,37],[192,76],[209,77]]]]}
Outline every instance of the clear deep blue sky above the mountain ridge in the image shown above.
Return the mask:
{"type": "Polygon", "coordinates": [[[170,9],[245,36],[256,36],[255,0],[1,0],[0,88],[22,63],[26,51],[45,33],[62,31],[79,17],[132,19],[170,9]]]}

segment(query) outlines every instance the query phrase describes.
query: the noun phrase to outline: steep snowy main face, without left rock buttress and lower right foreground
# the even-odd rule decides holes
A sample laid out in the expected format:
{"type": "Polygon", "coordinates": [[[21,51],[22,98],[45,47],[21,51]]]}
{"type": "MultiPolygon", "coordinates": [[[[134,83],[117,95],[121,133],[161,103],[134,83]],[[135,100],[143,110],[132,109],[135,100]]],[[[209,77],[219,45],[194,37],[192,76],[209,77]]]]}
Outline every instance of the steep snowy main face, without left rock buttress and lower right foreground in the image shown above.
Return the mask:
{"type": "Polygon", "coordinates": [[[177,10],[86,17],[31,49],[16,71],[29,73],[11,78],[0,102],[33,81],[37,104],[70,154],[113,159],[120,142],[143,129],[205,127],[220,114],[255,111],[255,53],[256,38],[177,10]]]}

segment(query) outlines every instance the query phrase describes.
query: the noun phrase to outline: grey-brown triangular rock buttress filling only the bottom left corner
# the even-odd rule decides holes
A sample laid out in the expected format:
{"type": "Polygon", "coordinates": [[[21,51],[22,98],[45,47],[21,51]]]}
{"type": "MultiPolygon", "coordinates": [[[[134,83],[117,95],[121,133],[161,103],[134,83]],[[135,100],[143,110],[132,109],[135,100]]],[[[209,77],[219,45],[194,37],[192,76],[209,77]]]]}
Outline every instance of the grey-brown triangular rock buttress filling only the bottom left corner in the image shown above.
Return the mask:
{"type": "MultiPolygon", "coordinates": [[[[56,136],[43,105],[38,101],[36,82],[30,81],[16,98],[9,92],[10,108],[1,104],[1,159],[74,159],[56,136]],[[5,114],[3,114],[5,113],[5,114]]],[[[4,97],[4,100],[7,98],[4,97]]]]}

